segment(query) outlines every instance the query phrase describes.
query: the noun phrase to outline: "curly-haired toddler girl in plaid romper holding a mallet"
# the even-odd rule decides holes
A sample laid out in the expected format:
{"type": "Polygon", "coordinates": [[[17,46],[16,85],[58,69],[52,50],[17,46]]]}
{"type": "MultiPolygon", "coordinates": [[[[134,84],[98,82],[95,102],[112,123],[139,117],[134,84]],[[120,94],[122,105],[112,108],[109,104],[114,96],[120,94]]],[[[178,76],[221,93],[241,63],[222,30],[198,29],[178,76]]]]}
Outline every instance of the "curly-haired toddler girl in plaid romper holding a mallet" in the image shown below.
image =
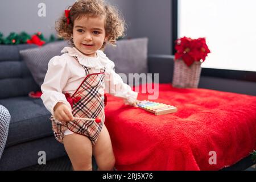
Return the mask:
{"type": "Polygon", "coordinates": [[[123,36],[124,21],[101,0],[77,1],[69,9],[57,22],[56,31],[72,47],[64,47],[63,55],[49,61],[41,98],[73,169],[92,170],[94,155],[98,169],[112,170],[115,158],[104,125],[104,90],[133,106],[138,96],[102,52],[106,43],[114,44],[123,36]]]}

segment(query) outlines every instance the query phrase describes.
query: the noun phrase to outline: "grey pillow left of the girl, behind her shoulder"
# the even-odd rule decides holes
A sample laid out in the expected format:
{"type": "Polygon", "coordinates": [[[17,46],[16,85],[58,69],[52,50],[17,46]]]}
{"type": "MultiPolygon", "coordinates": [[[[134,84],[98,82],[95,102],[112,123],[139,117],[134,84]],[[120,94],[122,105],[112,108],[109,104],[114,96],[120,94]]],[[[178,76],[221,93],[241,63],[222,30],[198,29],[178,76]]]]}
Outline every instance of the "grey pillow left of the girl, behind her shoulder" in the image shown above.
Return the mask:
{"type": "Polygon", "coordinates": [[[36,83],[41,86],[44,82],[44,77],[48,69],[49,60],[57,55],[65,46],[68,46],[67,41],[59,41],[46,44],[42,47],[26,49],[20,51],[23,61],[26,63],[36,83]]]}

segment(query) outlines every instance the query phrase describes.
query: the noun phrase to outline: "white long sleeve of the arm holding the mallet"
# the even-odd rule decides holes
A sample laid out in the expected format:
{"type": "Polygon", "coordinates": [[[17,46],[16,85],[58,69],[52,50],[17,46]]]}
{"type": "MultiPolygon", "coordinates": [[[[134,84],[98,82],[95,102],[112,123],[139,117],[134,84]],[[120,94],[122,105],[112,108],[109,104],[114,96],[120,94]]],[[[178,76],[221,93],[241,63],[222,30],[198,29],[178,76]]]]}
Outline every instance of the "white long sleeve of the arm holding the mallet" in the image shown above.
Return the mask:
{"type": "Polygon", "coordinates": [[[61,59],[60,56],[52,57],[48,63],[48,71],[44,82],[41,86],[44,106],[53,115],[53,108],[57,102],[63,102],[71,108],[71,105],[62,93],[64,86],[67,84],[69,78],[69,69],[67,60],[61,59]]]}

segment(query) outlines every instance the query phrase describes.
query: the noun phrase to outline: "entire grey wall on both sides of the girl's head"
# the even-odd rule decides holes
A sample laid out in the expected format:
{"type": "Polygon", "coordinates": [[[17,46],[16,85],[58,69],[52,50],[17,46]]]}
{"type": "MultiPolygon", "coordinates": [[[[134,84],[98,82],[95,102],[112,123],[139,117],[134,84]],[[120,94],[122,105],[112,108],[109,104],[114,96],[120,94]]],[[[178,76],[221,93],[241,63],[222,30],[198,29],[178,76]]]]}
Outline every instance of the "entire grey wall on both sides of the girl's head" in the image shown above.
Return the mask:
{"type": "MultiPolygon", "coordinates": [[[[149,38],[148,53],[171,53],[170,0],[107,0],[122,12],[126,23],[126,38],[149,38]]],[[[1,0],[0,32],[41,31],[46,38],[55,34],[55,21],[75,0],[1,0]],[[38,4],[46,4],[46,17],[38,16],[38,4]]]]}

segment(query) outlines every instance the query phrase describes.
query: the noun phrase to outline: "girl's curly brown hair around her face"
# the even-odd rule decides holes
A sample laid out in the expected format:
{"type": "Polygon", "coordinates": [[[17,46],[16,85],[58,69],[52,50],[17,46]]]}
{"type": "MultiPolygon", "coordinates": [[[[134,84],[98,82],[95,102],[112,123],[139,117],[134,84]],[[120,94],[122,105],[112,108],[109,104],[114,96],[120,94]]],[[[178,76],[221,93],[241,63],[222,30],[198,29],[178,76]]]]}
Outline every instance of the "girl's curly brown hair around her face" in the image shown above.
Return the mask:
{"type": "MultiPolygon", "coordinates": [[[[125,20],[122,14],[119,13],[116,7],[106,4],[104,0],[79,0],[69,6],[69,9],[71,10],[69,13],[70,23],[67,23],[65,13],[63,13],[61,18],[57,20],[55,29],[57,35],[64,40],[69,40],[71,46],[75,47],[72,39],[75,19],[80,19],[84,16],[105,17],[105,31],[110,44],[115,45],[117,39],[124,36],[125,20]]],[[[104,50],[105,46],[106,43],[104,42],[101,50],[104,50]]]]}

